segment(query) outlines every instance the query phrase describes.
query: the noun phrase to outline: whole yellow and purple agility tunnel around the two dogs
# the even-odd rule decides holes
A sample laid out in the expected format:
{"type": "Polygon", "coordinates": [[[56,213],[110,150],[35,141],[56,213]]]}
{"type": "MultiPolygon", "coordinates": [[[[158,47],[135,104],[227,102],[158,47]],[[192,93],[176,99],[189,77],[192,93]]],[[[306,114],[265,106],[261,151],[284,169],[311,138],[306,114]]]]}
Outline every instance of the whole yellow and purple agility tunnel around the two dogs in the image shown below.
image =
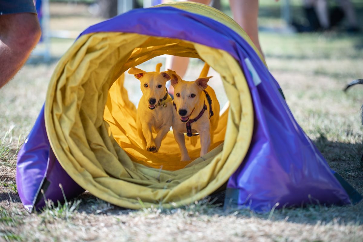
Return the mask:
{"type": "Polygon", "coordinates": [[[131,209],[186,205],[221,189],[226,208],[262,212],[359,201],[297,124],[260,57],[236,22],[197,3],[134,9],[90,26],[58,62],[19,152],[25,208],[85,190],[131,209]],[[207,155],[199,157],[198,136],[186,137],[189,163],[179,161],[172,131],[158,153],[141,148],[123,85],[130,67],[163,54],[208,63],[229,99],[207,155]]]}

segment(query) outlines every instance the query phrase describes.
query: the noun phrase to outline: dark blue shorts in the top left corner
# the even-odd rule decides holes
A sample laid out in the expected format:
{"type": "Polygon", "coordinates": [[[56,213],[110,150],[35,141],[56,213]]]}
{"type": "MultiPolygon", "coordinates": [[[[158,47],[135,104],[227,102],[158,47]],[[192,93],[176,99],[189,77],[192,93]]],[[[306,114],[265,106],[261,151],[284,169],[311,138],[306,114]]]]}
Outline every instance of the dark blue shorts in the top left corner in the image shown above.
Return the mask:
{"type": "Polygon", "coordinates": [[[35,13],[33,0],[0,0],[0,15],[10,13],[35,13]]]}

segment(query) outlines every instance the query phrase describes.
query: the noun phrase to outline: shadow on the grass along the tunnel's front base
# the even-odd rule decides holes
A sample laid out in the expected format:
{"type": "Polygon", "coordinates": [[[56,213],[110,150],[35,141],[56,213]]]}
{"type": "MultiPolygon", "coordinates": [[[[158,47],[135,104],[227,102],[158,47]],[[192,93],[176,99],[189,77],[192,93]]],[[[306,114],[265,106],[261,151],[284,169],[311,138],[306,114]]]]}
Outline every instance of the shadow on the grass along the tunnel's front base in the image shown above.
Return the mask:
{"type": "Polygon", "coordinates": [[[158,217],[174,215],[180,217],[198,216],[235,216],[237,218],[258,218],[267,221],[287,221],[299,224],[341,224],[361,225],[363,224],[363,202],[355,205],[326,206],[326,205],[303,205],[279,210],[271,210],[266,213],[256,213],[248,209],[223,210],[223,202],[220,204],[220,197],[224,200],[224,191],[208,196],[203,200],[196,201],[179,208],[163,208],[155,205],[153,208],[126,209],[111,205],[97,197],[85,192],[77,197],[82,199],[77,212],[104,216],[127,215],[131,217],[158,217]],[[217,200],[215,198],[217,197],[217,200]],[[219,201],[218,201],[219,200],[219,201]]]}

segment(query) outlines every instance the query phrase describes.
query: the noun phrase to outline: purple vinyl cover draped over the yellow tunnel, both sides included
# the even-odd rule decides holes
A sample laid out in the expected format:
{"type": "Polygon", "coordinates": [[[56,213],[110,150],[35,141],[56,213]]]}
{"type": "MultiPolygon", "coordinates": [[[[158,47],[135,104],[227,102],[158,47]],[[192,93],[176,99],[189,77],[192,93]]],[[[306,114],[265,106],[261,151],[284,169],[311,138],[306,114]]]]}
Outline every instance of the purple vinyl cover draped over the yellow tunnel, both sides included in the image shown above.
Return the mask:
{"type": "MultiPolygon", "coordinates": [[[[293,118],[277,81],[253,48],[233,30],[204,16],[159,7],[132,10],[93,25],[81,35],[95,32],[139,33],[187,40],[225,50],[240,63],[253,100],[254,132],[246,157],[236,160],[241,165],[228,181],[225,205],[268,211],[274,206],[350,203],[326,160],[293,118]],[[247,61],[261,79],[257,86],[247,61]]],[[[52,153],[49,152],[42,110],[18,156],[16,178],[25,206],[32,204],[39,208],[44,205],[35,202],[44,176],[50,181],[49,199],[62,200],[56,182],[63,184],[67,197],[82,192],[82,188],[72,184],[72,179],[52,153]],[[57,180],[52,182],[54,176],[57,180]],[[36,179],[30,181],[30,178],[36,179]]]]}

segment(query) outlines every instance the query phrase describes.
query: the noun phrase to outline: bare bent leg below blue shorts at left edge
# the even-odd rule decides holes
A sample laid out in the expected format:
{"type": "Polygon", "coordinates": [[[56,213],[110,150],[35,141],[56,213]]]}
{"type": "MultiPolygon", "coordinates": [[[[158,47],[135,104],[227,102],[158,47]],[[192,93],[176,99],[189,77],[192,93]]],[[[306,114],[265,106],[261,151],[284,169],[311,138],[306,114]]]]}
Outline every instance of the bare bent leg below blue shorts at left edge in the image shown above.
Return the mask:
{"type": "Polygon", "coordinates": [[[40,36],[36,14],[0,15],[0,88],[24,65],[40,36]]]}

